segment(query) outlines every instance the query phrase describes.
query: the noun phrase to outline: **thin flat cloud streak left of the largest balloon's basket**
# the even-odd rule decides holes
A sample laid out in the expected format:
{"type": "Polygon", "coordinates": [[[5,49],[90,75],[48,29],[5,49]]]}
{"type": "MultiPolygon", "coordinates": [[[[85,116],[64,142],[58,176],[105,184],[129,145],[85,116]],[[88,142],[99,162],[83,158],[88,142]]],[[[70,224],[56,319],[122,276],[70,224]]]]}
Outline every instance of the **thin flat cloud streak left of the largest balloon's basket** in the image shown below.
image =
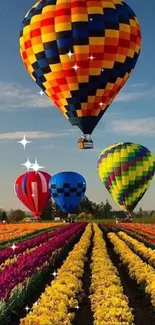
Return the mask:
{"type": "Polygon", "coordinates": [[[62,131],[59,133],[41,132],[41,131],[29,131],[29,132],[11,132],[11,133],[0,133],[0,141],[2,140],[21,140],[25,134],[27,139],[48,139],[48,138],[61,138],[69,136],[69,131],[62,131]]]}

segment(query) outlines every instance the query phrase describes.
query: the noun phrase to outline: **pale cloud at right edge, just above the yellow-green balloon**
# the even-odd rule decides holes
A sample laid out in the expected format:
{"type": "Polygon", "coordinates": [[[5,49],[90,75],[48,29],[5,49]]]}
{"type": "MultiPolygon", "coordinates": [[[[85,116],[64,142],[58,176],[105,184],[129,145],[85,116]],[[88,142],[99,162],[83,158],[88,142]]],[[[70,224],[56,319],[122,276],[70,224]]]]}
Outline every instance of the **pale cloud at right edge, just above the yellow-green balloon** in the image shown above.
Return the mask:
{"type": "Polygon", "coordinates": [[[152,136],[155,135],[155,117],[112,121],[109,130],[115,133],[152,136]]]}

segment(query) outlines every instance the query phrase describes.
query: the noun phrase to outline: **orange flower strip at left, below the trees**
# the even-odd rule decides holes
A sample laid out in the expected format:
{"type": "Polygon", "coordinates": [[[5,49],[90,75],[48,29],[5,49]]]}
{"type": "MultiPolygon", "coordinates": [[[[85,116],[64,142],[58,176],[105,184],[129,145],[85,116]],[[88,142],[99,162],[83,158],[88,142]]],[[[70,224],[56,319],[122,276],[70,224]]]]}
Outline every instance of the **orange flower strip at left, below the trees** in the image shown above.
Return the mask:
{"type": "Polygon", "coordinates": [[[0,243],[24,237],[43,229],[52,228],[61,223],[0,224],[0,243]]]}

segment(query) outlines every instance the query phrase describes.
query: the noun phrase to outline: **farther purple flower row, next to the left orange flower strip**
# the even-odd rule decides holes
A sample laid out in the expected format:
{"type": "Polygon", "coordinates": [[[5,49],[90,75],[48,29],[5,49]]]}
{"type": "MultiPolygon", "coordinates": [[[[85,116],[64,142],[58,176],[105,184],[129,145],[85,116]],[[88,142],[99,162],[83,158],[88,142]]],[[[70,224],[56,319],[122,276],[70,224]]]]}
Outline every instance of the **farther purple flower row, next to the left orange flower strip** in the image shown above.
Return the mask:
{"type": "Polygon", "coordinates": [[[21,241],[17,244],[17,248],[15,248],[14,250],[11,247],[4,248],[0,251],[0,264],[4,263],[5,260],[7,260],[8,258],[12,258],[15,255],[19,255],[23,253],[26,249],[31,249],[36,246],[39,246],[40,244],[43,244],[48,241],[50,238],[58,236],[69,229],[72,229],[72,224],[54,231],[50,231],[46,234],[37,235],[32,239],[21,241]]]}

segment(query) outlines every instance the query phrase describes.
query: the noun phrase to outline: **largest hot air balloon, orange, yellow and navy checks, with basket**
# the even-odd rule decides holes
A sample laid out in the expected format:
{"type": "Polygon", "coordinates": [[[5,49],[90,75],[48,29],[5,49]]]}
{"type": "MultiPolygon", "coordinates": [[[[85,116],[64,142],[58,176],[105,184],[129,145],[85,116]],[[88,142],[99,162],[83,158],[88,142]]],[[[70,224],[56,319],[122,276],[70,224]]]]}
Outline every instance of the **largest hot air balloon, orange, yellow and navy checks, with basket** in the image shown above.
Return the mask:
{"type": "Polygon", "coordinates": [[[26,14],[20,54],[28,73],[92,148],[91,133],[130,77],[141,48],[132,9],[121,0],[42,0],[26,14]]]}

